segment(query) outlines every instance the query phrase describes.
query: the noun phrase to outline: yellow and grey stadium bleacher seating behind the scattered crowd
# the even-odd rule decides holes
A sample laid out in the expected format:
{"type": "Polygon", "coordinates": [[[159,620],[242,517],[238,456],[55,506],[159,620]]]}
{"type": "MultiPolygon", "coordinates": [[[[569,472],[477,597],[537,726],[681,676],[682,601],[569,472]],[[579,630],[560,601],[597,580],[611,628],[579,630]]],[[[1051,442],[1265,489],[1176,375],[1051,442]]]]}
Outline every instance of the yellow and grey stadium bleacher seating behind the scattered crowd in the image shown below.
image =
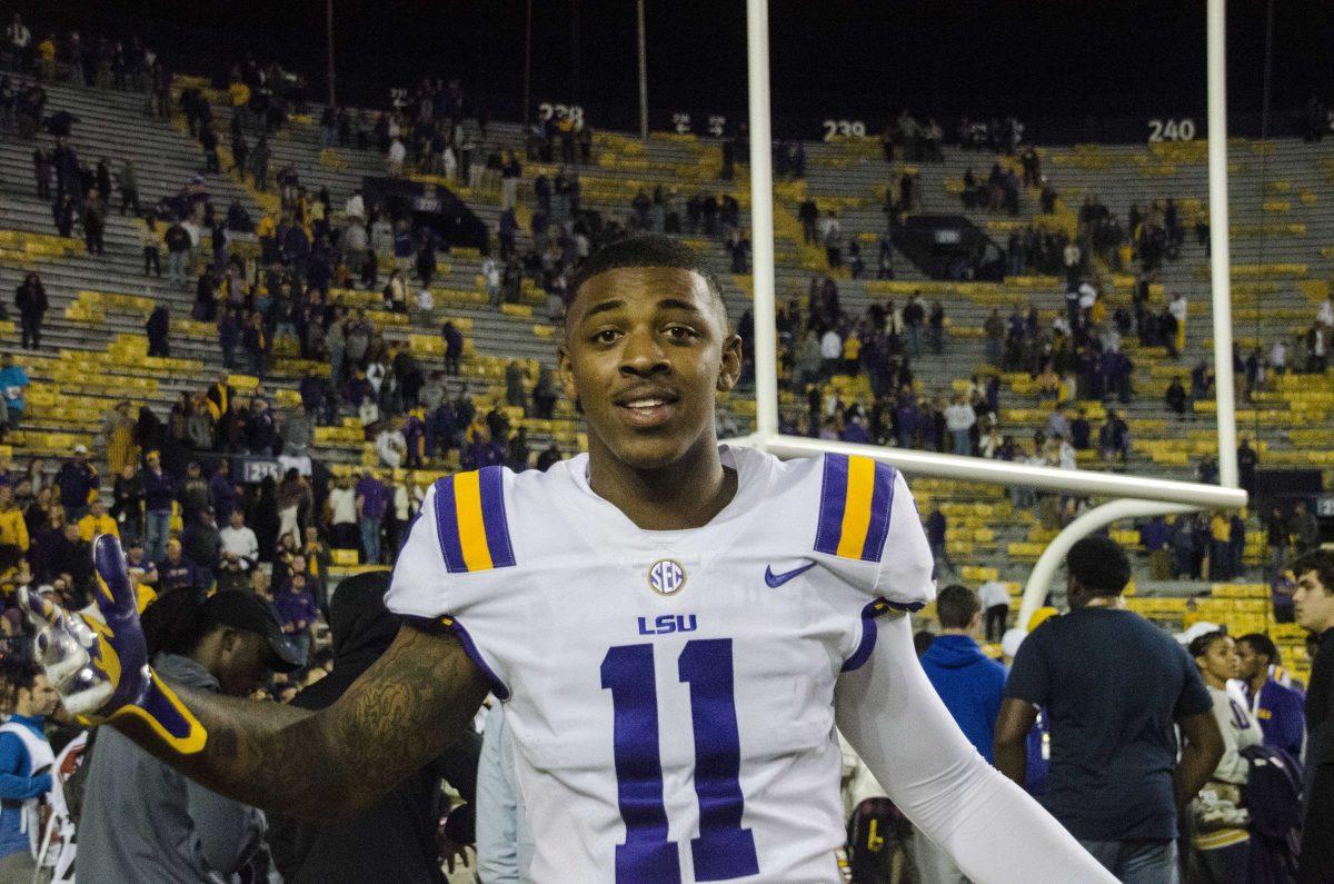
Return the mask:
{"type": "MultiPolygon", "coordinates": [[[[199,88],[211,101],[216,128],[223,131],[232,108],[225,89],[200,77],[177,76],[175,91],[199,88]]],[[[68,111],[79,122],[71,143],[88,160],[108,158],[117,167],[133,158],[139,167],[140,199],[144,204],[180,191],[185,182],[201,174],[203,159],[192,143],[184,119],[177,114],[171,122],[147,119],[144,99],[137,93],[112,89],[76,88],[59,83],[45,84],[49,111],[68,111]]],[[[297,170],[301,186],[315,194],[327,188],[335,210],[364,176],[384,172],[383,156],[372,150],[325,147],[315,120],[321,107],[313,104],[293,116],[269,139],[271,172],[288,164],[297,170]]],[[[468,122],[472,127],[474,123],[468,122]]],[[[480,140],[480,134],[474,132],[480,140]]],[[[523,154],[524,138],[519,126],[491,123],[486,132],[490,148],[523,154]]],[[[750,203],[748,180],[738,174],[735,180],[718,180],[722,147],[718,139],[694,135],[655,132],[647,142],[614,132],[594,134],[594,156],[588,166],[578,166],[583,204],[608,216],[623,216],[642,191],[662,187],[684,199],[696,191],[730,192],[747,223],[750,203]]],[[[49,144],[45,135],[39,143],[49,144]]],[[[0,146],[0,174],[5,180],[31,182],[33,144],[7,142],[0,146]]],[[[894,279],[852,279],[847,270],[831,271],[823,248],[802,240],[799,204],[811,198],[822,211],[836,210],[844,234],[856,238],[870,255],[884,230],[884,190],[894,187],[900,175],[915,175],[919,182],[923,212],[960,214],[992,236],[999,244],[1010,231],[1029,224],[1073,230],[1074,208],[1085,196],[1094,195],[1114,214],[1125,218],[1131,204],[1141,207],[1171,196],[1190,224],[1203,211],[1207,190],[1202,142],[1158,146],[1074,146],[1039,147],[1038,156],[1059,194],[1057,212],[1039,211],[1037,190],[1021,194],[1018,215],[999,215],[983,208],[964,208],[959,200],[960,182],[972,167],[984,171],[998,158],[988,152],[964,151],[946,146],[942,162],[886,163],[874,139],[835,139],[808,143],[807,171],[803,179],[779,182],[775,187],[775,234],[778,258],[778,296],[780,303],[803,298],[812,275],[835,278],[843,310],[860,315],[872,302],[887,296],[904,299],[914,291],[939,298],[946,304],[948,341],[940,355],[926,353],[914,362],[918,393],[939,397],[966,389],[967,379],[991,373],[987,363],[982,324],[992,307],[1035,306],[1043,324],[1062,311],[1062,280],[1043,275],[1014,275],[1003,282],[934,282],[926,279],[910,262],[899,260],[894,279]]],[[[1329,294],[1329,274],[1334,252],[1322,246],[1334,239],[1334,208],[1321,194],[1334,174],[1334,155],[1323,146],[1275,139],[1251,142],[1235,139],[1230,144],[1230,184],[1234,262],[1234,326],[1237,339],[1249,349],[1267,346],[1278,337],[1291,338],[1310,324],[1315,307],[1329,294]]],[[[231,166],[223,151],[223,168],[231,166]]],[[[1014,158],[999,158],[1015,166],[1014,158]]],[[[526,162],[519,187],[518,216],[520,250],[526,248],[532,210],[532,183],[538,175],[555,175],[559,163],[526,162]]],[[[416,180],[436,183],[432,175],[411,175],[416,180]]],[[[273,191],[260,192],[248,180],[237,182],[227,174],[203,174],[204,186],[219,208],[237,202],[255,220],[279,210],[273,191]]],[[[52,311],[45,323],[48,349],[43,353],[19,354],[33,386],[23,426],[7,438],[12,462],[21,466],[33,457],[60,458],[76,442],[91,443],[97,433],[100,415],[116,401],[129,395],[136,402],[165,411],[181,393],[199,393],[216,377],[220,354],[216,331],[209,323],[189,319],[192,294],[160,280],[145,280],[140,272],[139,226],[132,218],[112,214],[108,226],[108,254],[85,255],[79,240],[52,235],[49,210],[36,199],[31,186],[9,188],[4,228],[0,230],[0,282],[13,286],[19,274],[37,270],[51,296],[52,311]],[[172,314],[172,347],[169,359],[145,355],[141,339],[143,322],[157,303],[172,314]]],[[[491,230],[500,216],[499,190],[476,191],[455,186],[491,230]]],[[[732,274],[731,256],[720,239],[703,234],[687,235],[687,242],[704,251],[719,276],[727,283],[726,295],[734,316],[747,307],[750,279],[732,274]]],[[[233,254],[256,256],[253,243],[239,236],[233,254]]],[[[411,318],[376,310],[376,292],[334,290],[331,296],[348,306],[367,307],[387,342],[404,343],[431,373],[443,369],[443,345],[438,328],[446,319],[455,322],[468,338],[460,382],[466,385],[479,413],[504,398],[504,367],[520,359],[530,371],[554,365],[551,342],[556,327],[546,314],[546,298],[532,280],[524,280],[519,303],[496,310],[488,304],[482,280],[483,256],[476,250],[455,248],[442,256],[432,283],[434,310],[430,315],[411,318]]],[[[871,262],[868,262],[871,263],[871,262]]],[[[874,268],[872,268],[874,270],[874,268]]],[[[1098,266],[1094,275],[1110,307],[1129,304],[1134,276],[1129,270],[1113,271],[1098,266]]],[[[1151,303],[1161,306],[1165,292],[1185,292],[1190,303],[1186,350],[1179,361],[1169,361],[1161,349],[1137,346],[1129,337],[1123,350],[1135,362],[1134,399],[1117,403],[1123,410],[1131,433],[1131,451],[1125,462],[1103,462],[1097,453],[1081,453],[1083,469],[1115,469],[1130,474],[1194,478],[1199,458],[1215,449],[1210,429],[1211,402],[1194,403],[1195,421],[1179,421],[1165,414],[1163,393],[1173,377],[1186,374],[1190,366],[1209,357],[1211,315],[1209,303],[1207,258],[1194,236],[1187,235],[1179,258],[1167,260],[1151,288],[1151,303]]],[[[0,326],[0,341],[15,342],[12,326],[0,326]]],[[[275,405],[285,407],[297,401],[296,385],[307,373],[321,366],[304,363],[295,354],[276,353],[264,390],[275,405]]],[[[1045,397],[1027,373],[1005,371],[1002,378],[1000,425],[1007,435],[1027,439],[1042,429],[1051,401],[1045,397]]],[[[232,374],[237,390],[253,390],[257,381],[232,374]]],[[[832,390],[846,402],[868,401],[863,378],[835,378],[832,390]]],[[[1263,465],[1319,466],[1325,486],[1331,483],[1334,454],[1326,450],[1334,438],[1331,410],[1334,393],[1330,378],[1314,374],[1274,377],[1265,390],[1255,391],[1238,411],[1243,433],[1255,439],[1263,465]]],[[[1102,402],[1078,402],[1097,426],[1106,414],[1102,402]]],[[[783,393],[787,413],[804,409],[804,397],[783,393]]],[[[746,431],[754,415],[747,391],[742,390],[727,403],[730,418],[746,431]]],[[[556,443],[566,453],[579,443],[576,417],[570,403],[560,402],[551,421],[511,415],[515,426],[524,426],[534,450],[556,443]]],[[[321,427],[317,443],[320,458],[335,474],[362,466],[374,466],[376,457],[371,442],[359,434],[354,418],[342,426],[321,427]]],[[[436,462],[414,477],[418,481],[455,467],[455,461],[436,462]]],[[[404,473],[398,473],[404,478],[404,473]]],[[[1034,561],[1054,529],[1045,526],[1025,507],[1011,505],[1000,489],[978,485],[919,479],[915,483],[923,513],[939,507],[950,521],[948,549],[967,573],[996,574],[1014,584],[1021,581],[1027,564],[1034,561]]],[[[1137,538],[1122,531],[1127,545],[1137,538]]],[[[1259,578],[1266,561],[1263,529],[1251,514],[1245,561],[1247,577],[1259,578]]],[[[1143,608],[1146,614],[1177,625],[1178,601],[1185,593],[1209,592],[1207,584],[1173,584],[1155,593],[1167,593],[1163,606],[1143,608]],[[1170,604],[1167,604],[1170,602],[1170,604]]],[[[1222,598],[1219,588],[1210,593],[1222,598]]],[[[1249,598],[1249,597],[1247,597],[1249,598]]],[[[1137,604],[1147,600],[1141,597],[1137,604]]],[[[1233,608],[1219,610],[1233,612],[1233,608]]],[[[1247,609],[1249,610],[1249,609],[1247,609]]],[[[1237,609],[1241,616],[1239,609],[1237,609]]],[[[1242,618],[1245,620],[1245,618],[1242,618]]],[[[1251,621],[1245,620],[1246,624],[1251,621]]]]}

